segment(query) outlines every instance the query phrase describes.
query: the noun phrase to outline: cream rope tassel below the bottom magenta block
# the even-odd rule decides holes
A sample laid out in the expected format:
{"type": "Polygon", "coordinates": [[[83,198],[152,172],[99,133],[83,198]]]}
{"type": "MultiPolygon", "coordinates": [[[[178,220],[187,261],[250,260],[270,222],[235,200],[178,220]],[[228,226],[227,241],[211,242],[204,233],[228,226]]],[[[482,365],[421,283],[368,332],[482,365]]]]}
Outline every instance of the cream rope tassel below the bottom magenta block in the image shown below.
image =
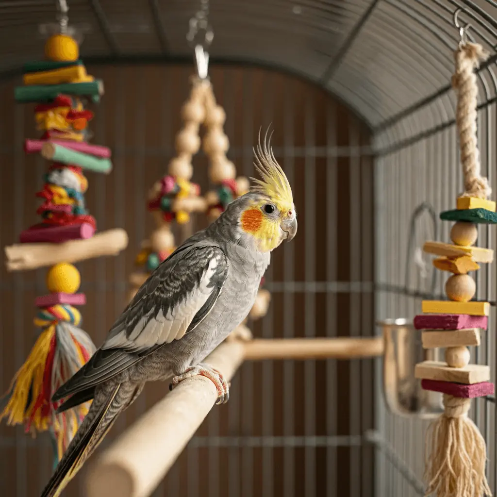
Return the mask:
{"type": "Polygon", "coordinates": [[[426,433],[425,496],[492,496],[485,464],[485,439],[468,417],[470,399],[443,395],[444,414],[426,433]]]}

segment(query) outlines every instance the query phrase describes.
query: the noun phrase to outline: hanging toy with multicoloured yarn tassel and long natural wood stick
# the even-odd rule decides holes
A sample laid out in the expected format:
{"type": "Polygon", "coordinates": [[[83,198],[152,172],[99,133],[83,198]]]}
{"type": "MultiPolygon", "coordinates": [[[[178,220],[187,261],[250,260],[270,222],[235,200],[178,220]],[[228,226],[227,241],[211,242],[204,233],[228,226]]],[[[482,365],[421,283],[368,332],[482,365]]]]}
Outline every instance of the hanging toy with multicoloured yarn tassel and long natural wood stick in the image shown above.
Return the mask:
{"type": "Polygon", "coordinates": [[[20,244],[5,247],[5,255],[9,271],[52,266],[47,274],[50,294],[35,300],[39,311],[34,324],[41,332],[3,399],[0,417],[9,424],[24,424],[33,434],[49,430],[57,462],[89,403],[57,413],[59,404],[51,401],[52,394],[95,350],[79,328],[82,317],[76,306],[86,299],[76,293],[81,276],[71,262],[117,254],[128,238],[121,229],[95,234],[96,221],[84,202],[88,181],[83,171],[112,168],[110,150],[85,141],[93,113],[84,109],[83,97],[97,100],[103,85],[86,75],[78,44],[67,34],[51,36],[45,54],[47,60],[25,66],[25,85],[15,89],[17,101],[37,102],[36,128],[42,132],[39,139],[25,141],[25,151],[41,152],[51,161],[43,189],[36,194],[42,199],[37,210],[41,219],[21,232],[20,244]]]}

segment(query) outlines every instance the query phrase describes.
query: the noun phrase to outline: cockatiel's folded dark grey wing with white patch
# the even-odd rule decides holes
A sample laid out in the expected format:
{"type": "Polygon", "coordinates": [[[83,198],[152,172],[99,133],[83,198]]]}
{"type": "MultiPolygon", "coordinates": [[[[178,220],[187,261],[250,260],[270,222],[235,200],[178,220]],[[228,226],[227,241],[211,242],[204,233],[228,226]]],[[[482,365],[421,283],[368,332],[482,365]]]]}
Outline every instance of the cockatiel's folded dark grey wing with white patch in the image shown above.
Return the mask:
{"type": "Polygon", "coordinates": [[[103,345],[55,392],[53,402],[73,395],[59,411],[91,399],[98,384],[197,327],[216,303],[227,273],[221,248],[201,242],[177,248],[142,285],[103,345]]]}

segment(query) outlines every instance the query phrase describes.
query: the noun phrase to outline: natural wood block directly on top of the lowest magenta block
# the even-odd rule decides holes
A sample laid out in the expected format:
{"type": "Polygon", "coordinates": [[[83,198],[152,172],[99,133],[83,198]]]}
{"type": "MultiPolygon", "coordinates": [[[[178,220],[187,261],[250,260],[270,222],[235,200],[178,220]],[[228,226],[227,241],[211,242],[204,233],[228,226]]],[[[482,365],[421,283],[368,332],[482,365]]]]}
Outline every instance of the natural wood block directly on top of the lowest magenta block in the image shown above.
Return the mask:
{"type": "Polygon", "coordinates": [[[445,362],[424,361],[416,364],[414,377],[473,385],[490,380],[490,367],[483,364],[468,364],[463,368],[451,368],[445,362]]]}

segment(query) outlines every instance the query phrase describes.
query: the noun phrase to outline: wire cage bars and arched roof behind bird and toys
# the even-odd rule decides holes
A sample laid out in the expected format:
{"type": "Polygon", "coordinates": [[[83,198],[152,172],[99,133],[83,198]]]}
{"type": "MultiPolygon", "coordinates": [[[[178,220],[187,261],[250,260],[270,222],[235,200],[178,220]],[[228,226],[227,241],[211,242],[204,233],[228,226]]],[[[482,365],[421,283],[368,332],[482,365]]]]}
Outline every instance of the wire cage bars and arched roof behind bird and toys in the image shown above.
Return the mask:
{"type": "MultiPolygon", "coordinates": [[[[105,65],[189,64],[184,35],[198,2],[73,0],[69,5],[70,22],[87,28],[83,58],[100,65],[92,73],[107,87],[97,109],[95,141],[109,144],[115,163],[122,165],[111,178],[90,179],[89,207],[101,229],[127,229],[131,251],[150,228],[145,192],[173,152],[187,89],[180,81],[186,82],[190,70],[105,65]],[[151,95],[161,95],[160,102],[151,95]],[[152,118],[159,107],[160,118],[152,118]]],[[[273,121],[275,155],[300,201],[301,240],[275,255],[268,274],[273,303],[256,334],[368,335],[374,332],[374,318],[411,319],[423,297],[443,293],[443,275],[435,274],[432,292],[429,262],[419,257],[424,237],[433,236],[429,223],[425,215],[417,219],[410,251],[410,220],[423,202],[436,213],[450,208],[462,189],[450,86],[452,53],[459,40],[452,23],[456,8],[471,23],[470,38],[491,52],[478,70],[478,133],[482,172],[497,190],[496,7],[495,1],[485,0],[210,1],[212,62],[285,69],[331,91],[359,116],[355,119],[303,83],[283,83],[279,75],[212,71],[216,95],[227,110],[230,154],[239,173],[251,173],[258,127],[273,121]],[[373,152],[360,120],[372,132],[373,152]],[[284,312],[290,308],[292,313],[284,312]]],[[[0,2],[5,79],[16,76],[23,61],[39,58],[37,24],[52,21],[53,13],[51,1],[0,2]]],[[[3,162],[13,167],[2,172],[2,184],[12,185],[1,196],[3,245],[32,221],[28,206],[44,170],[42,161],[31,162],[20,150],[32,130],[32,116],[14,110],[11,95],[8,83],[1,100],[5,117],[0,136],[3,162]]],[[[195,175],[205,185],[205,159],[195,163],[195,175]]],[[[448,239],[449,228],[437,220],[438,240],[448,239]]],[[[480,228],[478,244],[494,248],[495,236],[492,228],[480,228]]],[[[123,254],[82,264],[83,291],[89,296],[84,317],[97,343],[122,310],[132,258],[123,254]]],[[[2,269],[1,274],[3,329],[13,331],[12,337],[5,332],[0,336],[0,380],[5,386],[14,363],[18,366],[29,349],[30,320],[24,311],[42,290],[43,273],[12,276],[2,269]]],[[[489,331],[472,352],[472,362],[490,364],[493,381],[495,278],[492,266],[477,273],[476,298],[490,301],[492,312],[489,331]]],[[[233,391],[240,396],[232,397],[226,412],[213,410],[156,496],[194,497],[207,491],[209,496],[235,497],[365,497],[372,488],[377,496],[423,495],[426,422],[387,411],[381,361],[376,361],[374,375],[371,361],[246,364],[233,391]],[[368,388],[373,376],[374,389],[368,388]]],[[[160,395],[149,388],[111,435],[160,395]]],[[[494,397],[478,399],[471,411],[487,441],[493,490],[496,412],[494,397]]],[[[1,433],[2,487],[15,489],[19,497],[36,495],[50,473],[43,462],[48,445],[27,439],[18,429],[2,426],[1,433]],[[34,476],[28,468],[36,464],[34,476]]],[[[72,495],[83,495],[82,485],[78,479],[69,489],[72,495]]]]}

